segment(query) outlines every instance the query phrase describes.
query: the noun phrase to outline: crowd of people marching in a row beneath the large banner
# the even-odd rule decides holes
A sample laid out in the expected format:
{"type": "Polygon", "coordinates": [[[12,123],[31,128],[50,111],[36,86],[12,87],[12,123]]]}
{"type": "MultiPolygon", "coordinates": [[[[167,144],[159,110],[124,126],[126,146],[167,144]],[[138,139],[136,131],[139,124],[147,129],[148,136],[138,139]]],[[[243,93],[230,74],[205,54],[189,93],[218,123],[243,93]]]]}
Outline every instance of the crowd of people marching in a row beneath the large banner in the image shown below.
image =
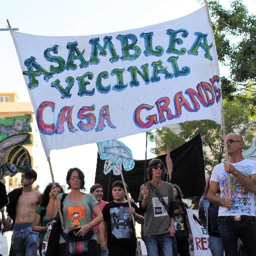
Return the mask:
{"type": "MultiPolygon", "coordinates": [[[[247,256],[255,256],[256,161],[242,157],[241,135],[229,133],[226,142],[229,162],[213,168],[199,202],[198,217],[208,231],[213,256],[238,256],[241,243],[247,256]]],[[[48,250],[41,251],[49,242],[47,234],[50,227],[53,230],[54,220],[59,220],[63,228],[54,244],[55,256],[135,256],[135,221],[141,224],[147,255],[189,256],[193,237],[187,205],[180,187],[163,180],[166,172],[161,160],[150,160],[148,181],[140,186],[139,206],[126,195],[126,184],[120,180],[111,185],[110,202],[102,200],[100,184],[85,193],[84,174],[78,168],[67,171],[69,193],[58,183],[49,183],[41,194],[32,188],[36,172],[23,173],[22,187],[11,191],[6,209],[0,209],[3,226],[13,221],[9,255],[37,255],[37,250],[40,255],[51,255],[48,250]]]]}

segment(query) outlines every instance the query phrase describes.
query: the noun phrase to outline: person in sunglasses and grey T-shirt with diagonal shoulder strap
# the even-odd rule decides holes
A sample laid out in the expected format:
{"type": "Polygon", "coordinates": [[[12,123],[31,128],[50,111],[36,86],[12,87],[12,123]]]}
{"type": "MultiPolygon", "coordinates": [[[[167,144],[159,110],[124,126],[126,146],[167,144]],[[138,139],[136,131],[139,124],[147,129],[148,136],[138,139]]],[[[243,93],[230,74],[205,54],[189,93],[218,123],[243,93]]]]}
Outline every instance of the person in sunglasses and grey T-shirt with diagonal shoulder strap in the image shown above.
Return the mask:
{"type": "Polygon", "coordinates": [[[162,180],[167,170],[160,159],[151,159],[146,172],[149,181],[140,186],[138,201],[144,212],[147,255],[172,255],[171,237],[175,232],[172,184],[162,180]]]}

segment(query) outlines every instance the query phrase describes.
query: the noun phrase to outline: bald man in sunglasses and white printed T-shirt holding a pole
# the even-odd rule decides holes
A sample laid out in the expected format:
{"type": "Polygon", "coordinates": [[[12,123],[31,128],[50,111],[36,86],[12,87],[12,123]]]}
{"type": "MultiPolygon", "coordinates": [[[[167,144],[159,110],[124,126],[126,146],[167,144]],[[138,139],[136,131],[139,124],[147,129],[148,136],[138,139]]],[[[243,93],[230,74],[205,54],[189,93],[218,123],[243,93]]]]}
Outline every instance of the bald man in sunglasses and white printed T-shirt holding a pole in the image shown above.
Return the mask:
{"type": "Polygon", "coordinates": [[[238,256],[237,238],[248,256],[256,255],[256,221],[254,194],[256,193],[256,161],[242,156],[243,139],[238,133],[226,135],[229,162],[214,166],[207,198],[218,204],[218,231],[225,255],[238,256]],[[230,175],[231,198],[228,197],[227,172],[230,175]],[[220,186],[220,197],[216,195],[220,186]]]}

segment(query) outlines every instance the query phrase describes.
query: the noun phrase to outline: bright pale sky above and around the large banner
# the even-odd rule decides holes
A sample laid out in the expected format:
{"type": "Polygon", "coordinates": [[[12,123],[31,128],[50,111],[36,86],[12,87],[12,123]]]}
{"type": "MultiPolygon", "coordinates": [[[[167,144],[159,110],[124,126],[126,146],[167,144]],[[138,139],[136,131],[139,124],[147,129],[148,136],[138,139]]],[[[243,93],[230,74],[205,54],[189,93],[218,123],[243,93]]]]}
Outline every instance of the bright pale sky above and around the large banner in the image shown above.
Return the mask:
{"type": "MultiPolygon", "coordinates": [[[[221,0],[221,4],[227,4],[221,0]]],[[[249,11],[256,10],[255,0],[243,0],[249,11]]],[[[185,16],[204,5],[200,0],[0,0],[0,28],[18,27],[20,32],[38,35],[90,35],[127,30],[152,25],[185,16]]],[[[255,14],[255,13],[253,13],[255,14]]],[[[223,71],[223,70],[222,70],[223,71]]],[[[221,69],[220,69],[221,75],[221,69]]],[[[0,31],[0,91],[17,91],[19,101],[30,101],[9,31],[0,31]]],[[[120,138],[128,146],[134,159],[145,157],[145,133],[120,138]]],[[[37,183],[40,190],[51,181],[49,165],[38,142],[41,161],[37,183]]],[[[147,144],[147,158],[154,157],[147,144]]],[[[50,161],[57,182],[65,183],[70,167],[78,167],[85,174],[85,187],[94,183],[97,159],[96,143],[51,150],[50,161]]]]}

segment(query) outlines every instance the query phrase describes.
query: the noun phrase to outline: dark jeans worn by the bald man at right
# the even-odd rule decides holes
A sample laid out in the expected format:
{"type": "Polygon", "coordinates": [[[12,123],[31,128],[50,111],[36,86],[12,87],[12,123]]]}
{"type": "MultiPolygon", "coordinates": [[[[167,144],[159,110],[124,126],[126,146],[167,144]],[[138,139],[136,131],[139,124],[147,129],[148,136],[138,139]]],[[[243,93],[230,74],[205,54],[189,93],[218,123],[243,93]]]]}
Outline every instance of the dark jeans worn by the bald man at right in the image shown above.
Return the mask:
{"type": "Polygon", "coordinates": [[[234,220],[226,216],[219,216],[218,232],[222,239],[226,256],[238,256],[238,237],[241,239],[247,255],[256,255],[255,220],[234,220]]]}

